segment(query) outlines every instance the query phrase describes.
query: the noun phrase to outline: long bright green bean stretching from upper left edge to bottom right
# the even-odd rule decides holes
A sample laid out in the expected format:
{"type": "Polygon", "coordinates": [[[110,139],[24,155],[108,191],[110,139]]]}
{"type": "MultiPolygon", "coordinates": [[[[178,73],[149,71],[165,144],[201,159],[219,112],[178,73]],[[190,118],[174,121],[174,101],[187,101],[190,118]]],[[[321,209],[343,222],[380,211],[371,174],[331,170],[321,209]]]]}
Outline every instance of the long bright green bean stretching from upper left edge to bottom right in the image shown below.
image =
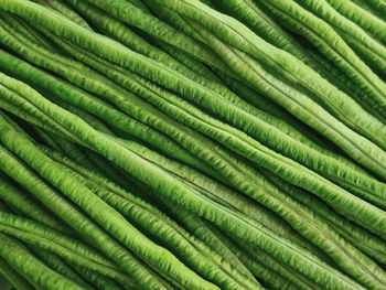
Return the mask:
{"type": "MultiPolygon", "coordinates": [[[[297,245],[289,241],[280,240],[280,238],[278,238],[274,233],[271,233],[268,228],[265,228],[262,225],[250,225],[245,221],[239,219],[239,217],[234,216],[232,214],[232,211],[229,212],[229,210],[224,208],[218,204],[214,204],[207,198],[204,198],[199,192],[186,187],[186,185],[175,180],[173,176],[171,176],[157,165],[149,163],[143,159],[140,159],[137,154],[117,144],[111,139],[107,138],[105,135],[98,133],[97,131],[93,130],[93,128],[87,126],[84,121],[82,121],[82,119],[78,119],[76,118],[76,116],[73,116],[66,112],[65,110],[62,110],[58,107],[54,106],[53,104],[47,103],[44,98],[39,96],[36,92],[25,87],[25,85],[23,85],[22,83],[9,79],[8,85],[12,84],[18,84],[18,86],[21,86],[18,88],[18,90],[24,90],[25,97],[40,103],[39,106],[41,108],[46,107],[49,105],[50,109],[47,110],[47,112],[51,115],[51,117],[61,119],[61,123],[66,126],[66,128],[76,128],[74,132],[76,132],[78,137],[82,137],[83,140],[87,142],[90,147],[95,149],[100,149],[99,151],[103,154],[105,154],[106,158],[120,165],[129,173],[139,178],[142,182],[148,183],[151,187],[157,189],[160,193],[164,194],[165,197],[179,202],[180,204],[184,205],[189,210],[194,211],[199,215],[204,215],[205,218],[215,222],[221,227],[226,227],[227,230],[230,230],[234,235],[240,236],[244,239],[247,239],[250,243],[256,244],[265,250],[269,251],[271,255],[280,257],[280,259],[286,264],[293,265],[292,262],[294,262],[298,259],[301,259],[302,262],[297,264],[296,267],[300,272],[304,273],[307,277],[313,277],[313,269],[318,268],[318,281],[320,283],[332,282],[333,284],[343,286],[346,289],[362,288],[346,276],[340,273],[330,266],[325,265],[323,261],[319,260],[315,256],[311,255],[310,253],[305,254],[304,250],[298,247],[297,245]],[[105,149],[103,150],[103,148],[105,149]],[[278,247],[280,248],[279,251],[277,251],[278,247]],[[279,255],[279,253],[282,250],[290,250],[291,254],[279,255]],[[307,264],[304,264],[304,257],[307,257],[307,264]]],[[[6,128],[3,128],[2,130],[4,130],[6,128]]],[[[14,149],[20,149],[21,142],[18,142],[19,138],[8,138],[10,137],[9,135],[13,135],[13,132],[7,130],[7,133],[1,133],[0,137],[2,137],[2,141],[11,143],[15,142],[18,143],[18,148],[14,149]]],[[[24,143],[24,141],[22,143],[24,143]]],[[[9,146],[11,143],[9,143],[9,146]]],[[[25,151],[20,151],[20,153],[22,152],[25,151]]],[[[39,152],[36,151],[36,153],[39,152]]],[[[28,157],[25,155],[25,158],[28,157]]],[[[34,162],[41,162],[43,160],[47,161],[45,158],[42,158],[34,160],[34,162]]],[[[45,162],[43,163],[45,164],[45,162]]],[[[36,168],[37,164],[34,165],[36,168]]],[[[50,170],[50,173],[52,174],[53,172],[50,170]]],[[[55,174],[57,173],[58,172],[55,171],[55,174]]],[[[66,187],[66,190],[71,190],[72,185],[74,185],[74,183],[71,183],[68,187],[66,187]]],[[[77,194],[76,196],[77,198],[84,198],[83,194],[77,194]]],[[[87,198],[87,204],[89,204],[89,198],[87,198]]],[[[98,213],[100,213],[100,211],[98,211],[98,213]]],[[[106,245],[106,240],[104,245],[106,245]]],[[[313,277],[312,279],[315,279],[315,277],[313,277]]]]}

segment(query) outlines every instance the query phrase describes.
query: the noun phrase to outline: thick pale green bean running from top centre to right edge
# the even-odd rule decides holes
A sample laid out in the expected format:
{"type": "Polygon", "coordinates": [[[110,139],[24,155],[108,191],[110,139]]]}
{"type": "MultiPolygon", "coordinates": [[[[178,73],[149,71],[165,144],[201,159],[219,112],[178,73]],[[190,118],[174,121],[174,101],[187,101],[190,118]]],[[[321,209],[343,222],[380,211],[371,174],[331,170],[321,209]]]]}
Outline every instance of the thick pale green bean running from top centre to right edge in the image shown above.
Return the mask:
{"type": "MultiPolygon", "coordinates": [[[[117,6],[119,6],[119,1],[117,1],[115,3],[117,6]]],[[[243,47],[244,51],[250,51],[255,57],[257,57],[259,61],[265,62],[266,64],[269,64],[270,66],[272,66],[272,69],[275,69],[275,72],[282,74],[283,77],[289,79],[289,82],[296,83],[298,85],[301,84],[301,86],[303,86],[305,90],[311,92],[311,94],[318,96],[318,98],[321,99],[323,105],[329,106],[329,108],[334,112],[334,115],[337,115],[339,118],[342,119],[347,126],[353,127],[355,130],[360,131],[361,133],[364,133],[366,137],[371,138],[375,142],[377,142],[382,146],[385,146],[383,138],[379,137],[379,132],[376,132],[376,130],[380,130],[380,131],[384,130],[383,129],[384,127],[382,126],[382,123],[378,122],[375,118],[373,118],[369,114],[364,111],[356,103],[352,101],[349,96],[346,96],[345,94],[342,94],[342,92],[339,92],[335,87],[331,86],[326,80],[321,78],[315,72],[313,72],[308,66],[302,64],[299,60],[297,60],[296,57],[291,57],[291,55],[282,54],[282,52],[279,50],[277,51],[278,55],[276,57],[274,57],[271,55],[271,53],[270,53],[270,55],[266,55],[264,53],[264,51],[271,52],[274,50],[274,47],[271,47],[271,45],[269,45],[265,42],[261,42],[261,41],[260,41],[261,44],[259,44],[257,47],[256,43],[259,41],[259,39],[254,33],[251,33],[248,30],[245,30],[245,28],[239,25],[240,23],[238,23],[238,22],[235,23],[235,22],[229,21],[229,19],[226,19],[226,21],[227,21],[226,24],[233,25],[235,28],[234,30],[232,30],[230,28],[226,29],[226,25],[214,25],[213,24],[214,21],[212,21],[213,20],[212,15],[207,14],[207,12],[211,10],[206,10],[205,11],[206,14],[201,13],[201,15],[197,17],[200,14],[200,12],[197,13],[199,9],[196,9],[196,8],[197,7],[200,8],[200,2],[195,1],[194,3],[196,7],[194,7],[194,8],[189,7],[187,8],[187,6],[183,3],[183,1],[162,2],[162,4],[167,4],[171,9],[179,10],[179,12],[185,13],[185,15],[187,15],[187,17],[191,14],[192,17],[196,17],[197,18],[196,20],[202,21],[204,19],[204,21],[211,23],[212,29],[216,30],[216,32],[219,32],[217,34],[224,34],[224,36],[226,36],[225,34],[232,34],[232,36],[234,36],[234,37],[227,37],[227,41],[230,41],[233,45],[236,45],[237,47],[243,47]],[[224,29],[226,29],[226,31],[224,29]],[[235,33],[235,30],[238,33],[242,33],[243,36],[240,36],[240,34],[235,33]],[[251,37],[254,37],[254,40],[255,40],[254,42],[250,41],[251,37]],[[262,46],[268,46],[268,47],[266,47],[266,50],[264,50],[262,46]],[[289,60],[291,60],[291,61],[289,61],[289,60]],[[297,69],[297,73],[290,73],[290,69],[297,69]],[[299,74],[299,72],[301,72],[301,75],[299,74]],[[294,77],[294,75],[297,75],[297,77],[294,77]],[[325,88],[328,88],[328,90],[329,90],[328,94],[325,92],[325,88]],[[337,95],[340,95],[340,96],[336,97],[337,95]],[[345,99],[345,101],[342,101],[343,98],[345,99]],[[353,110],[353,108],[355,108],[355,110],[353,110]],[[355,111],[355,114],[354,114],[354,111],[355,111]],[[371,126],[369,126],[369,119],[372,119],[371,126]],[[377,129],[375,129],[375,128],[377,128],[377,129]]],[[[192,3],[190,3],[190,6],[192,6],[192,3]]],[[[118,13],[119,13],[119,11],[118,11],[118,13]]],[[[212,13],[212,14],[214,14],[214,13],[212,13]]],[[[216,14],[216,17],[218,18],[218,14],[216,14]]],[[[222,20],[224,21],[224,18],[222,20]]],[[[214,49],[214,47],[212,47],[212,49],[214,49]]],[[[230,61],[228,61],[228,63],[230,61]]],[[[265,74],[267,74],[267,72],[265,72],[265,74]]],[[[372,80],[374,80],[374,82],[376,82],[376,79],[377,79],[376,76],[374,76],[372,78],[372,80]]],[[[251,82],[251,85],[256,86],[257,84],[258,84],[258,82],[256,82],[256,80],[251,82]]],[[[379,87],[378,92],[382,93],[383,92],[382,90],[383,83],[377,82],[376,84],[379,87]]],[[[261,89],[261,86],[260,86],[260,89],[261,89]]],[[[275,96],[271,95],[271,96],[274,98],[276,98],[277,101],[283,100],[282,98],[278,98],[277,95],[275,95],[275,96]]],[[[309,100],[311,101],[311,99],[309,99],[309,100]]],[[[281,103],[281,105],[283,106],[282,103],[281,103]]],[[[305,104],[302,103],[302,106],[305,106],[305,104]]],[[[311,106],[311,104],[310,104],[309,109],[314,109],[314,107],[315,106],[313,106],[313,105],[311,106]]],[[[288,108],[291,108],[291,107],[288,107],[288,108]]],[[[294,111],[292,111],[292,112],[294,114],[294,111]]],[[[310,118],[312,118],[312,116],[309,116],[309,117],[302,118],[302,119],[303,119],[303,121],[310,123],[310,118]]],[[[313,127],[315,125],[313,123],[313,127]]],[[[320,129],[320,132],[325,133],[325,129],[323,129],[323,130],[320,129]]],[[[385,132],[380,133],[380,136],[384,136],[384,135],[385,135],[385,132]]],[[[340,146],[344,146],[341,142],[342,140],[339,140],[336,138],[335,133],[331,135],[330,138],[333,139],[335,142],[339,142],[340,146]]],[[[347,147],[345,147],[345,149],[349,150],[347,147]]]]}

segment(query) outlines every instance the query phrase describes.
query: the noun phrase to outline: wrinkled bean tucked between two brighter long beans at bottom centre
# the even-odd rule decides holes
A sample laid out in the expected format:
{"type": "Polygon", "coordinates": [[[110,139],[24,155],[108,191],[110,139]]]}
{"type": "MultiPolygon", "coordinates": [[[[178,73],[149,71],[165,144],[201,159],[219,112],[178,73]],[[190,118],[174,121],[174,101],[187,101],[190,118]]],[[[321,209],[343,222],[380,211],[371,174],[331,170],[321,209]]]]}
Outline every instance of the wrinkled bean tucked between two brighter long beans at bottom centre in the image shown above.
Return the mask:
{"type": "MultiPolygon", "coordinates": [[[[137,153],[139,152],[137,151],[137,153]]],[[[86,171],[85,169],[76,167],[76,163],[64,160],[63,157],[58,157],[57,154],[55,157],[63,163],[66,163],[66,165],[76,168],[82,172],[86,171]]],[[[115,184],[101,176],[93,174],[93,172],[86,171],[86,176],[71,170],[68,172],[72,172],[72,174],[95,192],[95,194],[117,208],[117,211],[131,223],[138,225],[141,230],[150,234],[150,236],[153,236],[158,241],[162,241],[162,245],[165,245],[170,250],[174,251],[190,268],[194,269],[202,277],[218,284],[222,289],[233,287],[254,289],[258,287],[256,282],[246,279],[247,277],[240,275],[233,266],[222,262],[219,256],[211,253],[211,250],[199,240],[191,238],[176,223],[163,215],[156,207],[136,198],[130,193],[115,186],[115,184]],[[94,180],[98,180],[98,182],[89,181],[89,176],[94,180]],[[165,236],[168,237],[165,238],[165,236]],[[207,256],[211,257],[211,259],[206,259],[207,256]],[[234,281],[229,279],[230,277],[234,281]]]]}

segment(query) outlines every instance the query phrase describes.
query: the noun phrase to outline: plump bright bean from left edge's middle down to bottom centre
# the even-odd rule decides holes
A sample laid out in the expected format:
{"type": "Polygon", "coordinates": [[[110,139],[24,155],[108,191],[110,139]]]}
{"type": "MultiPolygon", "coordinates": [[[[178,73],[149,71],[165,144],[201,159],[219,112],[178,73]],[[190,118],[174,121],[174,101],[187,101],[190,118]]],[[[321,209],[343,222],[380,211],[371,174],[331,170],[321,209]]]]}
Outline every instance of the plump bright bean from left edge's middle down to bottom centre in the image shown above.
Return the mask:
{"type": "MultiPolygon", "coordinates": [[[[4,125],[2,128],[2,142],[17,151],[28,164],[84,210],[103,228],[124,243],[128,249],[133,250],[136,255],[140,256],[160,271],[164,271],[165,275],[181,281],[182,284],[190,286],[193,289],[205,289],[205,287],[207,287],[206,289],[216,289],[214,284],[203,280],[180,262],[170,251],[148,239],[117,211],[108,206],[99,197],[95,196],[86,186],[82,185],[75,178],[67,174],[57,163],[52,161],[28,140],[20,139],[18,147],[14,147],[14,142],[19,139],[18,135],[13,136],[14,131],[12,132],[12,130],[7,127],[8,126],[4,125]],[[15,137],[15,139],[9,140],[9,138],[12,138],[11,136],[15,137]],[[100,215],[100,212],[104,212],[104,215],[100,215]],[[162,257],[162,261],[159,257],[162,257]]],[[[118,255],[118,253],[116,255],[118,255]]],[[[119,253],[119,255],[121,255],[121,253],[119,253]]],[[[130,271],[129,269],[127,270],[130,271]]],[[[133,272],[130,273],[133,275],[133,272]]],[[[153,287],[149,281],[138,280],[138,282],[144,283],[143,287],[153,287]]]]}

